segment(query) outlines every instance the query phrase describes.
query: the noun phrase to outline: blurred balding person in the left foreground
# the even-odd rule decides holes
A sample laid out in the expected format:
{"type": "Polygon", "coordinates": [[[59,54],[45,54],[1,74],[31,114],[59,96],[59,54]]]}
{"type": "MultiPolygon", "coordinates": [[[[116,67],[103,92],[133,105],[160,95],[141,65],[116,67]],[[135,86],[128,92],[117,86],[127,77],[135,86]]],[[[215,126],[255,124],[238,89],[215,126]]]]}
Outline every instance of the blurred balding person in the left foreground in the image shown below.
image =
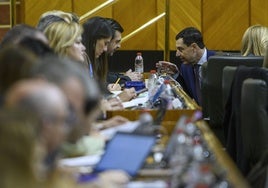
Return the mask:
{"type": "Polygon", "coordinates": [[[43,80],[22,80],[8,91],[5,105],[37,119],[35,138],[31,137],[36,142],[34,154],[28,153],[29,157],[34,155],[30,165],[37,187],[74,187],[75,182],[70,177],[64,178],[56,168],[60,145],[70,130],[67,100],[62,91],[43,80]]]}

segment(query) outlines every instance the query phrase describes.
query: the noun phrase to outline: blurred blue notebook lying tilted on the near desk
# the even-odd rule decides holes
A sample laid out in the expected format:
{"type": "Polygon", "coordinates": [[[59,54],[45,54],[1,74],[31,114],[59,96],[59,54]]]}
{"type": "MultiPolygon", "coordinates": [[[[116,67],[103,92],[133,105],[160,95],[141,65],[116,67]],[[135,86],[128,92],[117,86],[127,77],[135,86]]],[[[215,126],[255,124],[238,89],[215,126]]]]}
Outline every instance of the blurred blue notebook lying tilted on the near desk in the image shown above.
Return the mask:
{"type": "Polygon", "coordinates": [[[136,176],[151,152],[155,140],[155,136],[151,135],[117,132],[107,143],[106,151],[94,171],[119,169],[132,177],[136,176]]]}

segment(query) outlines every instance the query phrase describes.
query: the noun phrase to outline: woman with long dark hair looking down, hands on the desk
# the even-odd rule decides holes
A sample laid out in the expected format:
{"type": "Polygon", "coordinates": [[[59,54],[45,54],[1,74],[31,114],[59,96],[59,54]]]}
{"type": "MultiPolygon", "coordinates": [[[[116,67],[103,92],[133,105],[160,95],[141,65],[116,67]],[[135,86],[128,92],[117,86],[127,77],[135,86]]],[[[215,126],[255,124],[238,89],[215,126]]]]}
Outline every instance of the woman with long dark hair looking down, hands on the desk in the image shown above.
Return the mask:
{"type": "MultiPolygon", "coordinates": [[[[107,49],[110,43],[113,30],[105,18],[92,17],[84,24],[84,33],[82,34],[82,42],[86,47],[86,53],[89,57],[89,70],[91,75],[106,86],[106,77],[108,73],[107,49]]],[[[121,90],[119,84],[107,85],[109,91],[121,90]]],[[[108,92],[107,92],[108,93],[108,92]]],[[[119,97],[122,101],[128,101],[136,96],[135,89],[125,89],[119,97]]]]}

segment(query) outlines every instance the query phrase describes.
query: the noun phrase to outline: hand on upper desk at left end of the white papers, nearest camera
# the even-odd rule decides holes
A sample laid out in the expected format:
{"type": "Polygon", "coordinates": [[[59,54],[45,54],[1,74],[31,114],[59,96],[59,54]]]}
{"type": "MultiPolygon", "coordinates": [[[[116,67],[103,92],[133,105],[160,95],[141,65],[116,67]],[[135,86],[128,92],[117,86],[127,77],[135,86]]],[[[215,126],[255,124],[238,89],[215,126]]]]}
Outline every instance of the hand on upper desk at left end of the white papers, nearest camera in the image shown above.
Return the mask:
{"type": "Polygon", "coordinates": [[[113,97],[110,99],[103,99],[101,101],[101,109],[102,111],[112,111],[112,110],[123,110],[123,104],[120,99],[117,97],[113,97]]]}

